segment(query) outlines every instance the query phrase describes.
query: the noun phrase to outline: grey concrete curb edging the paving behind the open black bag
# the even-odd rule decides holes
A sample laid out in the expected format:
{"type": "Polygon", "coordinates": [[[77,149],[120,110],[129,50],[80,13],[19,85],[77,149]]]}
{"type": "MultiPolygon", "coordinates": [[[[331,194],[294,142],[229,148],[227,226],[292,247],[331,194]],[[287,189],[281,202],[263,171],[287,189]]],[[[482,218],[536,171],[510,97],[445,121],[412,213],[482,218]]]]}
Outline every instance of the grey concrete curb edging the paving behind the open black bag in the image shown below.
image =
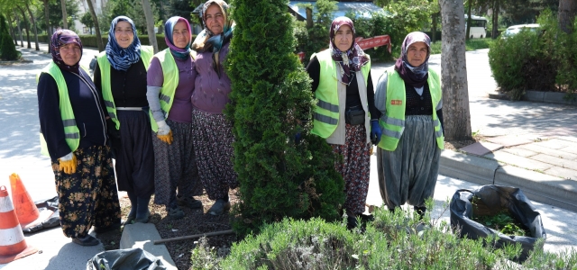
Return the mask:
{"type": "Polygon", "coordinates": [[[577,211],[577,183],[498,161],[444,150],[439,174],[475,184],[515,186],[536,202],[544,202],[569,211],[577,211]]]}

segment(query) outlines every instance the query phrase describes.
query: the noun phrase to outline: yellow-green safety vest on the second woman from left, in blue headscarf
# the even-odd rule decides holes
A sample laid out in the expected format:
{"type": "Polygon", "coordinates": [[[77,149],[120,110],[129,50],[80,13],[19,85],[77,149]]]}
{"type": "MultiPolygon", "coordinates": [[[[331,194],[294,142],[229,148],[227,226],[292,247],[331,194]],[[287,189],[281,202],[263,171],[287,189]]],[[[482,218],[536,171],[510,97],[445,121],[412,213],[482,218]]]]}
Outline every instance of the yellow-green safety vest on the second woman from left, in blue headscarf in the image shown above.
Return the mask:
{"type": "MultiPolygon", "coordinates": [[[[154,55],[151,46],[141,46],[141,58],[144,63],[144,68],[148,71],[151,66],[151,59],[154,55]]],[[[106,58],[106,51],[102,51],[96,58],[98,61],[98,68],[100,68],[100,85],[102,87],[102,97],[105,100],[106,112],[108,116],[114,121],[116,130],[120,130],[120,121],[116,117],[116,107],[114,106],[114,97],[112,96],[112,85],[110,82],[110,62],[106,58]]]]}

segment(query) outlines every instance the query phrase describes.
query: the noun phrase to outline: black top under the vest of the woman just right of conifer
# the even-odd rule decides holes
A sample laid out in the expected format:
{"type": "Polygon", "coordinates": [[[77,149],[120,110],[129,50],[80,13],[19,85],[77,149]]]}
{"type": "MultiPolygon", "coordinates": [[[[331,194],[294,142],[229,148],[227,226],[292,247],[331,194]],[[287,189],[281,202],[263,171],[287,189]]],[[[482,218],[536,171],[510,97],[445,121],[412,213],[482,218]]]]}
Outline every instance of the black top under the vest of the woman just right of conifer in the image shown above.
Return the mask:
{"type": "MultiPolygon", "coordinates": [[[[308,76],[313,79],[312,89],[313,92],[318,88],[318,80],[321,75],[321,65],[316,57],[312,58],[308,62],[307,66],[308,76]]],[[[354,74],[354,72],[352,72],[354,74]]],[[[371,119],[379,119],[380,112],[375,107],[375,93],[372,86],[371,71],[369,71],[369,77],[367,79],[367,101],[369,103],[369,112],[371,112],[371,119]]],[[[346,86],[346,108],[352,108],[354,106],[361,105],[361,96],[359,95],[359,85],[357,83],[357,78],[353,76],[351,78],[351,83],[346,86]]]]}

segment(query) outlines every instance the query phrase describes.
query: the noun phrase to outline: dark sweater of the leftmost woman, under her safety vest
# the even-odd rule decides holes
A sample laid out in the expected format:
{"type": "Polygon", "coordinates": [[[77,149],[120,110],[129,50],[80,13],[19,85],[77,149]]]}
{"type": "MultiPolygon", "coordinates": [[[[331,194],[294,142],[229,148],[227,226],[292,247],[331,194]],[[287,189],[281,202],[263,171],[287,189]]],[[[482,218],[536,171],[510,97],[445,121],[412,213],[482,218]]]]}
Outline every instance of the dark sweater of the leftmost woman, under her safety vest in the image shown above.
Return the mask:
{"type": "MultiPolygon", "coordinates": [[[[68,87],[72,111],[80,130],[78,148],[106,144],[105,106],[102,95],[96,90],[90,76],[80,68],[80,75],[62,70],[68,87]]],[[[60,95],[56,81],[50,74],[42,73],[38,81],[38,115],[41,132],[46,139],[52,161],[68,155],[72,150],[64,137],[60,116],[60,95]]]]}

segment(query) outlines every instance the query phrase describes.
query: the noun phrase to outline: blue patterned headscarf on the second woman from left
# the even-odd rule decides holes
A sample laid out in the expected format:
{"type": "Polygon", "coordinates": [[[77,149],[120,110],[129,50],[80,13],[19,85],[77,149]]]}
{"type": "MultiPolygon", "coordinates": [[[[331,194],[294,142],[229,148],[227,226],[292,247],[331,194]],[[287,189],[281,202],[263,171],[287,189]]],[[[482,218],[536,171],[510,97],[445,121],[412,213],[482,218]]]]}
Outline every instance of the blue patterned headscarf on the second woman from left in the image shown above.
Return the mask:
{"type": "Polygon", "coordinates": [[[110,31],[108,31],[108,43],[106,43],[106,58],[110,65],[116,70],[126,71],[128,67],[138,62],[141,58],[141,40],[136,35],[136,28],[134,22],[129,17],[118,16],[110,23],[110,31]],[[122,48],[116,42],[114,37],[114,28],[118,22],[128,22],[133,27],[134,40],[128,48],[122,48]]]}

